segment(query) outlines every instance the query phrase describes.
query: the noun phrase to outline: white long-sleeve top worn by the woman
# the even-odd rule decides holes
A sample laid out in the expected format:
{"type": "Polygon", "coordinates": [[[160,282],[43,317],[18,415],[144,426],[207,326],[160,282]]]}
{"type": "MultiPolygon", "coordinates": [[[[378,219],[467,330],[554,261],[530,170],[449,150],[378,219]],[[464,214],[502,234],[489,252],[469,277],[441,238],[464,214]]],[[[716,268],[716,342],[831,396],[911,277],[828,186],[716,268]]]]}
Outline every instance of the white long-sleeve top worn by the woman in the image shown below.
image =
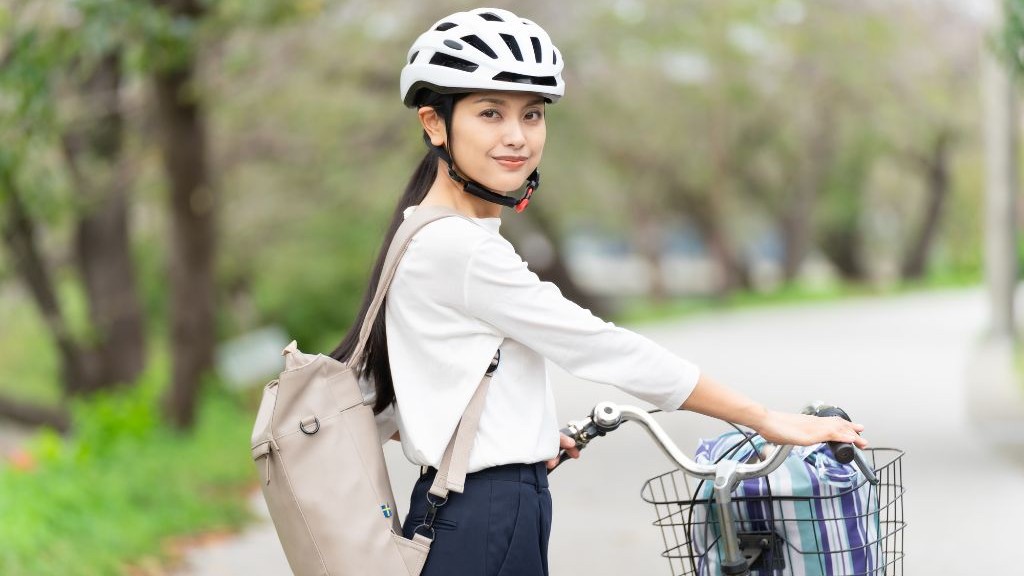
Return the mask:
{"type": "Polygon", "coordinates": [[[416,234],[398,264],[385,320],[393,416],[406,456],[420,465],[440,463],[499,346],[501,365],[469,471],[558,453],[545,358],[580,378],[678,409],[696,385],[697,367],[541,282],[499,234],[500,224],[500,218],[436,220],[416,234]]]}

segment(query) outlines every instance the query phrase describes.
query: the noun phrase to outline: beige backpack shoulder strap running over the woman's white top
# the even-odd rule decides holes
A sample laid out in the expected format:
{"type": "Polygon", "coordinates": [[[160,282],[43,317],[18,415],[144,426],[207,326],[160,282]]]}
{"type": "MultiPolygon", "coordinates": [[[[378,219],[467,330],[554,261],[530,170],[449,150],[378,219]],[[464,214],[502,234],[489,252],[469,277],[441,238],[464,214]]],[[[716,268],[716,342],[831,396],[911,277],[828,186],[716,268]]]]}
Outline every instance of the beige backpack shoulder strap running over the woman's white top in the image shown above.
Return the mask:
{"type": "MultiPolygon", "coordinates": [[[[362,356],[362,352],[367,347],[374,321],[384,305],[388,288],[391,287],[391,281],[394,280],[395,272],[398,270],[398,262],[406,254],[406,250],[409,249],[413,237],[430,222],[451,216],[469,219],[446,206],[417,206],[412,215],[406,218],[398,227],[398,230],[395,231],[391,245],[388,246],[387,256],[384,258],[384,266],[381,269],[381,277],[377,282],[374,299],[370,302],[370,307],[367,308],[367,315],[362,319],[362,326],[359,327],[359,339],[352,351],[352,356],[349,357],[349,366],[354,366],[358,362],[358,359],[362,356]]],[[[476,392],[473,394],[472,400],[469,401],[462,419],[459,420],[455,435],[444,450],[444,456],[438,467],[434,484],[430,488],[430,493],[435,496],[446,498],[449,491],[461,493],[465,488],[466,472],[469,467],[469,452],[473,447],[473,441],[476,439],[476,429],[480,423],[480,414],[483,413],[483,403],[487,396],[490,374],[498,367],[500,356],[500,351],[495,354],[495,360],[492,361],[490,367],[487,368],[486,373],[480,380],[480,384],[476,387],[476,392]]]]}

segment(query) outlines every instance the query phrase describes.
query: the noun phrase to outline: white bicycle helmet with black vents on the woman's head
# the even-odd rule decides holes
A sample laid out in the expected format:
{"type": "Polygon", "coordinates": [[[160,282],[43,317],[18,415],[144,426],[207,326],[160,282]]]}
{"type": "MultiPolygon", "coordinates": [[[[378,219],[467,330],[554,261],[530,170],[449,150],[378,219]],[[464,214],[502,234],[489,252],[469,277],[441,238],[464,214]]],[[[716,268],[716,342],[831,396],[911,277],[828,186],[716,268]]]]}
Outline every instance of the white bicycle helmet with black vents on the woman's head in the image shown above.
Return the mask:
{"type": "Polygon", "coordinates": [[[565,93],[562,56],[543,28],[508,10],[477,8],[437,20],[409,49],[401,99],[417,106],[422,88],[536,92],[551,102],[565,93]]]}

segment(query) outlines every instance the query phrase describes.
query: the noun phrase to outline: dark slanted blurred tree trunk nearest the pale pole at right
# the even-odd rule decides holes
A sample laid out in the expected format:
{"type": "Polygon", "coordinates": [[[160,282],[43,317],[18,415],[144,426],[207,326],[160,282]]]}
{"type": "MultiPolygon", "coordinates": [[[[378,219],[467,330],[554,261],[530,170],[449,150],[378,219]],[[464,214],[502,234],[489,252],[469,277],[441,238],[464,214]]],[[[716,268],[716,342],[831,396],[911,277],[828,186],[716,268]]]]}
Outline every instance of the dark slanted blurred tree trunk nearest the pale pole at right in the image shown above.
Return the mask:
{"type": "Polygon", "coordinates": [[[951,134],[943,130],[934,141],[931,155],[921,165],[927,184],[925,217],[903,259],[904,280],[919,280],[928,270],[928,255],[939,233],[943,208],[949,197],[949,141],[951,134]]]}

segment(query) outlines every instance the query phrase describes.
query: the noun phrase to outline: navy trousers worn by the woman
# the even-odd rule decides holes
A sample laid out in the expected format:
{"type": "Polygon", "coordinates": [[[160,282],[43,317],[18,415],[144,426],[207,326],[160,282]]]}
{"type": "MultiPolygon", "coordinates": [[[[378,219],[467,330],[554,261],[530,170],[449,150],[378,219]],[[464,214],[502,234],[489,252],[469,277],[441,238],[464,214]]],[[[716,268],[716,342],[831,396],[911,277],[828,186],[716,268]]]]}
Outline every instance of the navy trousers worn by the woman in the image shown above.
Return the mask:
{"type": "MultiPolygon", "coordinates": [[[[430,468],[413,489],[402,527],[407,538],[424,522],[435,472],[430,468]]],[[[425,528],[419,532],[430,535],[425,528]]],[[[551,493],[543,462],[473,472],[465,491],[452,493],[437,509],[421,576],[548,576],[550,535],[551,493]]]]}

